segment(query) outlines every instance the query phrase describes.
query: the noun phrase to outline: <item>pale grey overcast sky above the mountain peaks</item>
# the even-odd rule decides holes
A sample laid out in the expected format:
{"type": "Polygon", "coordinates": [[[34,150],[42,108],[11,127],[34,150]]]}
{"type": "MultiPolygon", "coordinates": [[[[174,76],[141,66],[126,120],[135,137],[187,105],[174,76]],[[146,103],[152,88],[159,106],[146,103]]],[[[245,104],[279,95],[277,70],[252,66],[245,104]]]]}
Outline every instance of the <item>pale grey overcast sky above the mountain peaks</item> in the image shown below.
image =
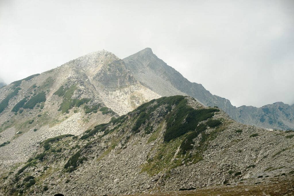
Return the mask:
{"type": "Polygon", "coordinates": [[[294,104],[294,1],[0,0],[6,83],[81,55],[150,47],[235,106],[294,104]]]}

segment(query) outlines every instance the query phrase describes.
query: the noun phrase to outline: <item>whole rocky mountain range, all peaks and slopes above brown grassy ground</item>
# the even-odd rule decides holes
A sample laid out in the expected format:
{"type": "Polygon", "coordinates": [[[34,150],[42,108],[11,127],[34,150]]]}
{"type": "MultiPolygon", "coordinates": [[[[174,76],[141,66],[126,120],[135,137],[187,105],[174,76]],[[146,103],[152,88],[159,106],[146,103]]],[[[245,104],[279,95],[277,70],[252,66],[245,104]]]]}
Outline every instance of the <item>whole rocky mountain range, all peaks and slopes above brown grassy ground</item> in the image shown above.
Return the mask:
{"type": "Polygon", "coordinates": [[[283,185],[293,131],[241,123],[293,129],[293,109],[233,107],[150,48],[123,60],[89,53],[0,88],[0,195],[283,185]]]}

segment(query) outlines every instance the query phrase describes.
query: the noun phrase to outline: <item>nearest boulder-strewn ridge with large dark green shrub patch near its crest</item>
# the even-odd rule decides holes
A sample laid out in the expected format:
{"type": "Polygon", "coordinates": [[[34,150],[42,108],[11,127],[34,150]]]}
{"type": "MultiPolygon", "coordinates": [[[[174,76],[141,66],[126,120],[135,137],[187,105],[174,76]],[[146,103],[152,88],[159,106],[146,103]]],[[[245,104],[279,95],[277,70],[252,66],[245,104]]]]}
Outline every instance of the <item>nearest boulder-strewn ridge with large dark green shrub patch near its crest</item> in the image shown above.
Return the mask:
{"type": "Polygon", "coordinates": [[[191,97],[162,97],[81,135],[45,140],[3,175],[0,190],[117,195],[240,185],[245,179],[266,186],[270,179],[293,179],[293,140],[292,131],[240,124],[191,97]]]}

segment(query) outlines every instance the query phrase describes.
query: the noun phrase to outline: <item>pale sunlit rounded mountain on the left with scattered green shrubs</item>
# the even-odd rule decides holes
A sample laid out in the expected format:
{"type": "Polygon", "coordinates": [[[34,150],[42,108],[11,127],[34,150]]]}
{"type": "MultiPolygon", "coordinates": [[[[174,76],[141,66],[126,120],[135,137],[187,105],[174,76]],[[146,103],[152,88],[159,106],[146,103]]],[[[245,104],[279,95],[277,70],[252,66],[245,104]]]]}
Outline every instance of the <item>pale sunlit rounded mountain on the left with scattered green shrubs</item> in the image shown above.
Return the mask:
{"type": "Polygon", "coordinates": [[[159,97],[133,77],[123,60],[105,50],[4,86],[0,174],[27,160],[46,138],[81,134],[159,97]]]}

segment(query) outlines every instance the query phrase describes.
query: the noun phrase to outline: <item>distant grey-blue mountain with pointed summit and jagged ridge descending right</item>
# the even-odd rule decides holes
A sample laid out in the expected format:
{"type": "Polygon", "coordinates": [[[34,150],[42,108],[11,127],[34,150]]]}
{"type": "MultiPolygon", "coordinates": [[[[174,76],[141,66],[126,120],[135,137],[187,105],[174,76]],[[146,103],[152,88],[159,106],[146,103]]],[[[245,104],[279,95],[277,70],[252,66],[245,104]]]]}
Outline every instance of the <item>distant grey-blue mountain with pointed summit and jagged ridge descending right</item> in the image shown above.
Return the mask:
{"type": "Polygon", "coordinates": [[[269,129],[294,129],[293,106],[278,102],[261,108],[235,107],[228,99],[211,94],[201,84],[189,82],[178,71],[153,54],[151,48],[145,48],[123,60],[126,68],[142,85],[161,96],[186,94],[206,106],[220,107],[232,119],[244,124],[269,129]]]}

